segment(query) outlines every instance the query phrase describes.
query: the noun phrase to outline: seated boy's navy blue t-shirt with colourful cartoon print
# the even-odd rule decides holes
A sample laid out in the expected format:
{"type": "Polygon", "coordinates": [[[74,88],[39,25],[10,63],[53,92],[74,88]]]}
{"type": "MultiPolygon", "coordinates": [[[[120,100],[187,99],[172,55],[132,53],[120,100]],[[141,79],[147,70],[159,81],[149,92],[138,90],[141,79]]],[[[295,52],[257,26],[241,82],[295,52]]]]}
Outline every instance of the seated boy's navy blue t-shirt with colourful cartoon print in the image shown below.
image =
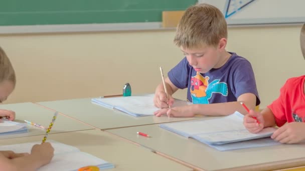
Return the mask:
{"type": "Polygon", "coordinates": [[[232,55],[220,68],[212,68],[207,73],[199,73],[184,57],[168,76],[180,89],[188,88],[187,98],[193,103],[209,104],[236,101],[244,93],[256,95],[256,105],[260,104],[251,63],[230,52],[232,55]]]}

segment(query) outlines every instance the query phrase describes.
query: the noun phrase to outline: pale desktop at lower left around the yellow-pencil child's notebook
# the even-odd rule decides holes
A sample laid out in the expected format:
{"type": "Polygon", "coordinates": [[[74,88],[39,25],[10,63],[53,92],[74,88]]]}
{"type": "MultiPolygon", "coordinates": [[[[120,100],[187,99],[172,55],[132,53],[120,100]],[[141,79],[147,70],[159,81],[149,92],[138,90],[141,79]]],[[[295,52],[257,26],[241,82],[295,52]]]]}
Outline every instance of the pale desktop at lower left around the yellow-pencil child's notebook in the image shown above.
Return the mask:
{"type": "MultiPolygon", "coordinates": [[[[0,139],[0,145],[40,141],[43,136],[0,139]]],[[[106,170],[192,170],[126,140],[98,129],[50,134],[48,139],[75,146],[115,165],[106,170]],[[69,137],[69,138],[67,138],[69,137]]]]}

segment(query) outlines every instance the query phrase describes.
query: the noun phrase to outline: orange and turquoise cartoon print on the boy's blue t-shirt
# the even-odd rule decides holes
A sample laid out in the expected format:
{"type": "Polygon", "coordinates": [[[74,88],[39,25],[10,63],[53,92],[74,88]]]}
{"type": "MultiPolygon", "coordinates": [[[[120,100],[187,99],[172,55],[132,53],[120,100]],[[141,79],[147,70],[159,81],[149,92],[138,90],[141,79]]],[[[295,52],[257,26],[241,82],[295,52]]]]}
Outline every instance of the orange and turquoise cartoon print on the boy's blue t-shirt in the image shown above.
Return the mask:
{"type": "Polygon", "coordinates": [[[209,104],[213,93],[228,95],[228,85],[215,79],[209,83],[209,76],[203,77],[200,72],[191,78],[191,96],[195,104],[209,104]]]}

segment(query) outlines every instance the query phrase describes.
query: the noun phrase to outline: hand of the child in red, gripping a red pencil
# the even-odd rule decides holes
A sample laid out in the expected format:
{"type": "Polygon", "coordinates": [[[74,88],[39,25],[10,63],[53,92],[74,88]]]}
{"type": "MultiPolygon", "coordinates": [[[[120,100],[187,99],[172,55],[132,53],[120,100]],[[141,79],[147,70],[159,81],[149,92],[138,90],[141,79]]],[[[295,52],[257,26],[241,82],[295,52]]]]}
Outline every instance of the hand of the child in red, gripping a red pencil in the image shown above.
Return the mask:
{"type": "Polygon", "coordinates": [[[249,114],[244,116],[244,125],[249,132],[257,133],[264,128],[264,118],[260,112],[250,110],[249,114]],[[255,117],[257,120],[253,117],[255,117]]]}

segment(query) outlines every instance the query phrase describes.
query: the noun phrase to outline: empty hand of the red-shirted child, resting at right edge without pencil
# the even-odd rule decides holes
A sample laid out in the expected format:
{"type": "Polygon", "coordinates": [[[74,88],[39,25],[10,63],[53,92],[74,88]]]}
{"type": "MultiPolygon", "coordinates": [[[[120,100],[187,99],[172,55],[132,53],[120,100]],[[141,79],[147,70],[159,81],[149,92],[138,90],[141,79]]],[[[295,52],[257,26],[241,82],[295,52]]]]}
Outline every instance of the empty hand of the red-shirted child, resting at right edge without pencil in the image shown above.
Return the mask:
{"type": "Polygon", "coordinates": [[[273,132],[271,138],[280,143],[297,143],[305,139],[305,123],[289,122],[273,132]]]}

